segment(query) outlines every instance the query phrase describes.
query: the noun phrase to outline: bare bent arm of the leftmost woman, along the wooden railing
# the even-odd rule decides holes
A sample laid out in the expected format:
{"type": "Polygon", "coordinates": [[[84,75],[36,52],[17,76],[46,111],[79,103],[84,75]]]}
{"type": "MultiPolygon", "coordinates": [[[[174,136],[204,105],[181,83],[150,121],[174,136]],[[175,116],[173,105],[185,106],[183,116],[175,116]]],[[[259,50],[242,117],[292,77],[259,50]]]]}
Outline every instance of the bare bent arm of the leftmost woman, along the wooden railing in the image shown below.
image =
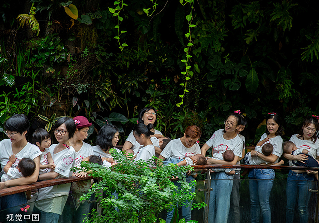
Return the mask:
{"type": "Polygon", "coordinates": [[[35,183],[38,180],[40,168],[40,156],[33,159],[35,163],[35,171],[31,176],[21,177],[14,180],[8,180],[0,183],[0,189],[35,183]]]}

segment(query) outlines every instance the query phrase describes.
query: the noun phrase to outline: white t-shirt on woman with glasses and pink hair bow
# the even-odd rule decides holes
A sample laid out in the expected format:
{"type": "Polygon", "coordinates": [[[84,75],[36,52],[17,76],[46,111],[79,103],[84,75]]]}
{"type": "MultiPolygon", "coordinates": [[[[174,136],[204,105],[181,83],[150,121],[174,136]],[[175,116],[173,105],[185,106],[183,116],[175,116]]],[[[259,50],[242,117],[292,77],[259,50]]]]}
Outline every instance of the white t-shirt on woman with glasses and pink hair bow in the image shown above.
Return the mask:
{"type": "Polygon", "coordinates": [[[206,142],[206,144],[212,148],[212,153],[223,154],[227,149],[234,152],[235,156],[242,157],[243,140],[239,135],[236,135],[233,139],[227,140],[224,138],[223,129],[217,130],[213,136],[206,142]]]}

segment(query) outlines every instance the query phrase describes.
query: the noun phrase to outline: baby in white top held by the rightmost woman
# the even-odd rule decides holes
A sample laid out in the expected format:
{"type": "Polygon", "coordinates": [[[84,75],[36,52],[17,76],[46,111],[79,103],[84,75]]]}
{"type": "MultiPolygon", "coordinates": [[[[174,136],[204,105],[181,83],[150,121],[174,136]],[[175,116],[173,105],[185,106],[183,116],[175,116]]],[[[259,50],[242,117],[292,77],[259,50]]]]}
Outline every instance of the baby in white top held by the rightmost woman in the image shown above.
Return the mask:
{"type": "MultiPolygon", "coordinates": [[[[298,149],[292,141],[285,141],[283,143],[284,153],[291,154],[293,156],[299,154],[308,154],[307,149],[298,149]]],[[[297,160],[289,160],[289,166],[302,166],[302,167],[319,167],[319,161],[315,160],[312,156],[308,156],[308,160],[302,162],[297,160]]],[[[318,180],[318,174],[315,174],[315,178],[318,180]]]]}

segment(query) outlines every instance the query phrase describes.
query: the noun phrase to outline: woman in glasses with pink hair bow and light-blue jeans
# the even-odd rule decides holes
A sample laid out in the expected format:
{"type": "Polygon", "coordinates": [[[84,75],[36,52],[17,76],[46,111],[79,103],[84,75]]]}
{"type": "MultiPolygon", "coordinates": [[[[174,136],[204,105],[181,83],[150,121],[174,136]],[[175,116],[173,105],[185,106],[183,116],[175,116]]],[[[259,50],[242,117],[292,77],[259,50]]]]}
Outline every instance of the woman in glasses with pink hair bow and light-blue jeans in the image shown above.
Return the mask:
{"type": "MultiPolygon", "coordinates": [[[[243,140],[237,134],[237,129],[241,124],[241,117],[238,113],[228,115],[224,122],[224,129],[217,130],[213,136],[203,145],[201,153],[205,156],[206,151],[212,148],[212,155],[223,154],[226,150],[231,150],[234,153],[233,161],[217,160],[208,158],[207,164],[227,164],[235,165],[242,157],[243,140]]],[[[233,188],[233,176],[225,171],[211,171],[211,191],[210,203],[208,210],[208,223],[225,223],[227,222],[230,195],[233,188]]]]}

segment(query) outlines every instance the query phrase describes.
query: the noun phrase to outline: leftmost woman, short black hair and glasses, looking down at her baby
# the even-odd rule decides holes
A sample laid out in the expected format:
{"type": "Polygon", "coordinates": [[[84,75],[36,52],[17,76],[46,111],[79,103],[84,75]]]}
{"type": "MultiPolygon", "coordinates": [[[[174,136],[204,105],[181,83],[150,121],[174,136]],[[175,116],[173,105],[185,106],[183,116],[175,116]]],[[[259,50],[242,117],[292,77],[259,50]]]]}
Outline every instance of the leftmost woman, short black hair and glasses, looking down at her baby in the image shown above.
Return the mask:
{"type": "MultiPolygon", "coordinates": [[[[16,168],[22,158],[33,160],[36,168],[29,177],[0,182],[0,189],[31,184],[38,179],[41,151],[36,145],[27,142],[26,136],[29,126],[30,122],[24,114],[15,114],[4,122],[5,134],[9,139],[4,139],[0,142],[0,162],[2,167],[0,175],[3,174],[3,168],[9,162],[9,156],[12,154],[15,154],[16,161],[11,168],[16,168]]],[[[27,199],[24,192],[0,197],[0,222],[7,221],[7,214],[13,214],[14,216],[15,214],[21,214],[21,205],[26,203],[27,199]]]]}

